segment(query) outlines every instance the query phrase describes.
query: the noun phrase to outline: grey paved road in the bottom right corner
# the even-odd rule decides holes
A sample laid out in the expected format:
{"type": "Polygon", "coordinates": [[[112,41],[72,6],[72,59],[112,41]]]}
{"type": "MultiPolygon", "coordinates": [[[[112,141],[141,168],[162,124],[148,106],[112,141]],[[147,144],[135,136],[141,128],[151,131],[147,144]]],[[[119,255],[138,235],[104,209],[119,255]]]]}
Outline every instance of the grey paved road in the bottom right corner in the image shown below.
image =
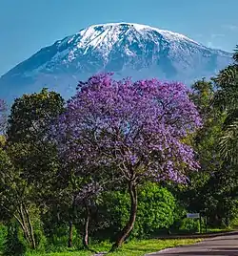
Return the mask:
{"type": "Polygon", "coordinates": [[[238,256],[238,234],[210,238],[195,245],[167,249],[149,256],[238,256]]]}

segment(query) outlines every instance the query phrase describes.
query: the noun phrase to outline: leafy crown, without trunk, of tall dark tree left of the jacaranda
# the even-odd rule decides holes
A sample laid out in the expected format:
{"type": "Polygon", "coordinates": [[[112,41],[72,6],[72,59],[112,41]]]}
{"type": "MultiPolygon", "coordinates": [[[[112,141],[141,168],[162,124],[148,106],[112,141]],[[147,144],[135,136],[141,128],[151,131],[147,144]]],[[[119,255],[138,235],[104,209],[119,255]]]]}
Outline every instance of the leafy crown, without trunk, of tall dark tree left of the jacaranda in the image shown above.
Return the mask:
{"type": "Polygon", "coordinates": [[[39,193],[43,184],[50,186],[52,173],[57,169],[56,150],[47,140],[47,134],[50,124],[63,110],[63,98],[47,89],[15,99],[10,110],[7,130],[10,158],[17,168],[24,170],[24,179],[34,183],[39,193]]]}

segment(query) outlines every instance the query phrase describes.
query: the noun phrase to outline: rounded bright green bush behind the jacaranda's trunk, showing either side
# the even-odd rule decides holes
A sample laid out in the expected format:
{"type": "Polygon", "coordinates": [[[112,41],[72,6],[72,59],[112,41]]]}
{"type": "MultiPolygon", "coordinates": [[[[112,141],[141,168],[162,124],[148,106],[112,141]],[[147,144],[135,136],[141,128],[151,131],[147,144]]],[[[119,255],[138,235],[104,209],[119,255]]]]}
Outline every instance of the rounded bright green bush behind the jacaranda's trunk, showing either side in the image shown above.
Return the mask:
{"type": "MultiPolygon", "coordinates": [[[[121,191],[103,195],[104,218],[108,228],[101,230],[112,235],[129,219],[129,195],[121,191]]],[[[148,182],[138,190],[138,211],[131,237],[144,238],[160,229],[169,228],[174,221],[175,199],[167,188],[148,182]]],[[[103,236],[102,233],[98,237],[103,236]]]]}

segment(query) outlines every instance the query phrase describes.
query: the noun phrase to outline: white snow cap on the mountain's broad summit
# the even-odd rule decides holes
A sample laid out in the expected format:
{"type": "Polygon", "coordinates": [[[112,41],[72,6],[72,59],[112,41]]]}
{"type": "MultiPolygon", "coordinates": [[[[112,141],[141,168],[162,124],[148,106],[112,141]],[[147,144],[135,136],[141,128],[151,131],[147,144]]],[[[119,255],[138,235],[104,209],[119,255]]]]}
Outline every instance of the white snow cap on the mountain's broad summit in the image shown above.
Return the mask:
{"type": "MultiPolygon", "coordinates": [[[[84,53],[92,47],[96,49],[101,47],[102,52],[107,54],[112,49],[115,43],[123,41],[124,37],[129,38],[129,42],[143,39],[154,39],[155,43],[156,33],[162,35],[165,40],[169,41],[181,41],[186,40],[194,44],[197,42],[189,39],[187,36],[177,33],[163,31],[156,28],[149,27],[147,25],[141,25],[136,23],[108,23],[101,25],[92,25],[89,28],[83,29],[80,32],[66,38],[68,44],[75,42],[75,51],[78,48],[84,48],[84,53]],[[151,38],[151,33],[154,33],[154,38],[151,38]]],[[[65,41],[63,41],[65,42],[65,41]]]]}

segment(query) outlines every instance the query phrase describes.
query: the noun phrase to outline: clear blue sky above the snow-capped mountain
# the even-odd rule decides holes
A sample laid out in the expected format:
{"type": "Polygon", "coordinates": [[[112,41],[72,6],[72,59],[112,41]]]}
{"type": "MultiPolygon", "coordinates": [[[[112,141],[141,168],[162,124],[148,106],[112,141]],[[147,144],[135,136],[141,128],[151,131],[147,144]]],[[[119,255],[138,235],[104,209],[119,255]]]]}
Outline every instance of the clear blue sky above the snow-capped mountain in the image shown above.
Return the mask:
{"type": "Polygon", "coordinates": [[[0,75],[57,39],[107,22],[147,24],[231,52],[237,10],[237,0],[0,0],[0,75]]]}

